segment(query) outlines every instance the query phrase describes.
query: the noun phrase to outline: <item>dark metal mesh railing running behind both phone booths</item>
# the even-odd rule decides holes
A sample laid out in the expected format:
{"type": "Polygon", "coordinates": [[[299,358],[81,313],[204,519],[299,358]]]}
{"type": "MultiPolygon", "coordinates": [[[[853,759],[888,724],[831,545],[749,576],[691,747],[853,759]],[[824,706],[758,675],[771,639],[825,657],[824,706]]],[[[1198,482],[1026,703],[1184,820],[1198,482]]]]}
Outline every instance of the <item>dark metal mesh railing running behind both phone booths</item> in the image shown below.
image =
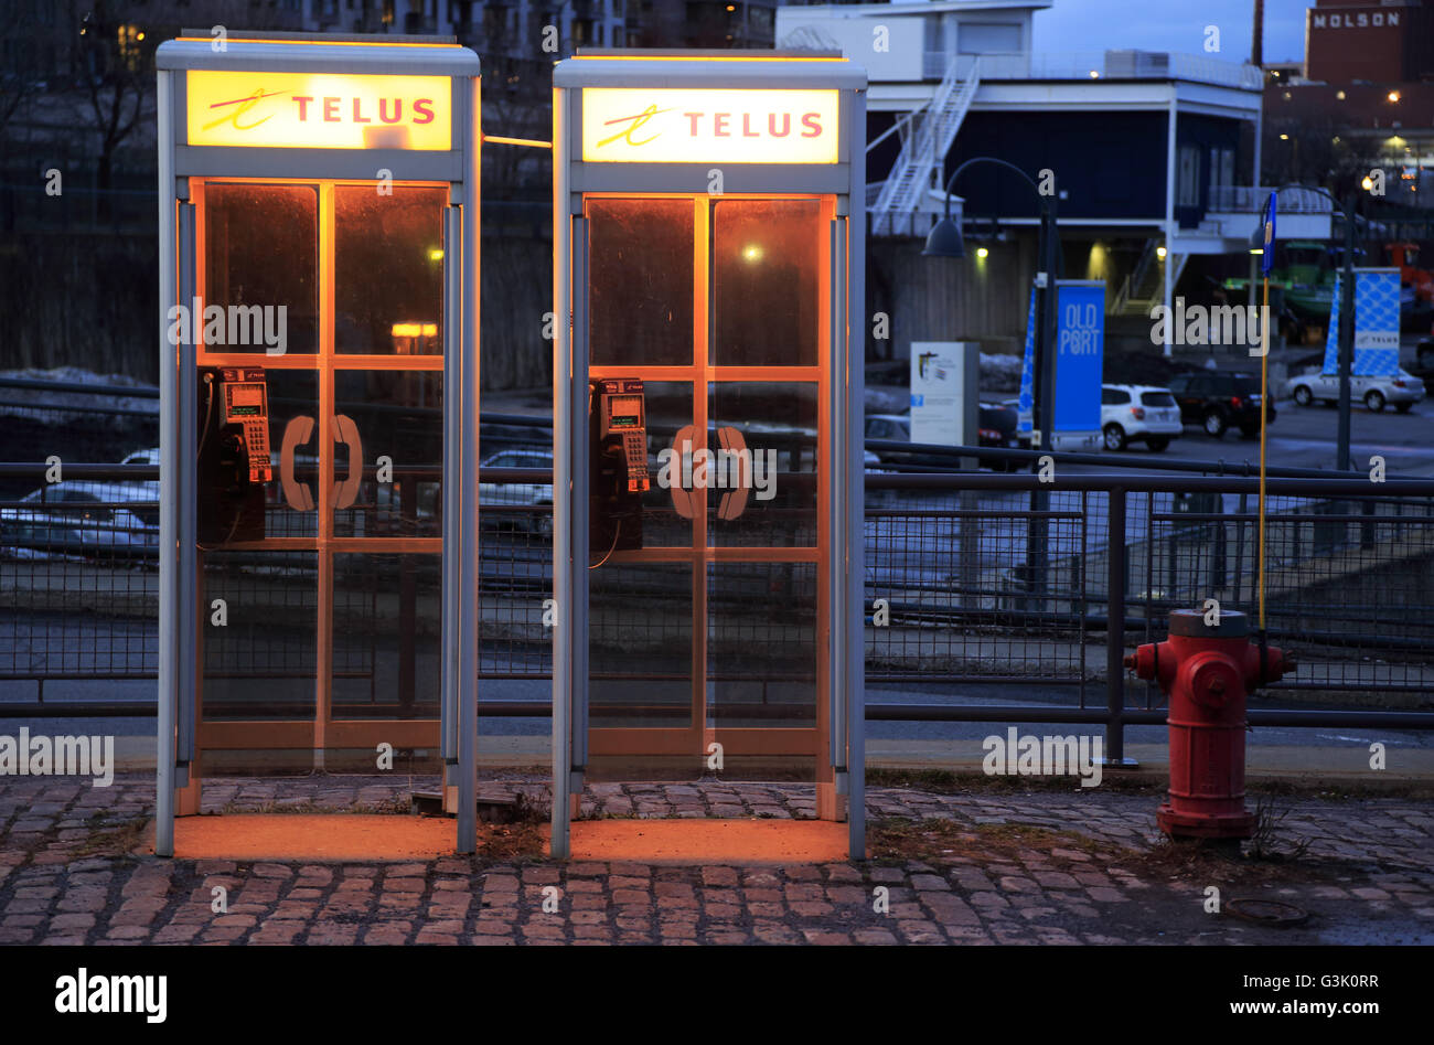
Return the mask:
{"type": "MultiPolygon", "coordinates": [[[[1024,467],[1041,456],[1032,452],[869,445],[886,461],[901,458],[905,471],[866,477],[868,613],[880,599],[889,616],[866,630],[868,682],[1073,692],[1061,706],[872,703],[872,721],[1100,723],[1119,758],[1124,725],[1163,721],[1159,690],[1126,678],[1127,646],[1162,639],[1173,609],[1200,607],[1206,599],[1223,610],[1255,606],[1258,481],[1248,465],[1141,461],[1150,469],[1226,474],[1083,475],[1073,469],[1108,467],[1110,459],[1055,454],[1060,478],[1041,482],[1031,474],[955,472],[949,465],[951,455],[969,455],[1024,467]]],[[[43,472],[44,465],[0,465],[0,479],[33,479],[37,494],[43,472]]],[[[46,685],[155,678],[156,477],[148,465],[66,465],[63,484],[46,495],[0,501],[0,686],[14,693],[14,683],[30,682],[39,690],[33,702],[0,698],[0,716],[152,713],[152,698],[50,700],[46,685]],[[49,495],[66,488],[95,498],[49,495]]],[[[551,497],[551,472],[485,468],[479,479],[480,678],[551,678],[551,632],[542,622],[552,583],[543,498],[545,488],[551,497]]],[[[364,491],[353,508],[357,517],[381,521],[387,511],[407,518],[369,485],[364,491]]],[[[1434,695],[1434,479],[1371,484],[1364,475],[1271,469],[1268,495],[1268,634],[1295,650],[1301,669],[1262,690],[1250,721],[1434,726],[1434,712],[1418,709],[1434,695]],[[1263,706],[1308,690],[1336,702],[1401,695],[1408,709],[1263,706]]],[[[403,511],[423,524],[423,501],[417,508],[413,498],[403,501],[403,511]]],[[[429,521],[437,518],[436,504],[426,511],[429,521]]],[[[654,528],[671,521],[660,512],[654,528]]],[[[317,583],[307,560],[297,561],[314,553],[281,553],[295,558],[285,564],[265,554],[274,553],[214,556],[212,583],[241,586],[274,627],[297,620],[294,614],[311,616],[313,600],[295,591],[317,583]]],[[[346,640],[334,670],[371,689],[383,643],[391,639],[386,627],[391,630],[393,617],[383,617],[381,599],[393,581],[364,563],[350,566],[334,570],[346,640]]],[[[630,583],[617,574],[614,581],[630,583]]],[[[404,583],[417,586],[422,601],[436,576],[419,568],[404,583]]],[[[776,590],[777,581],[753,583],[753,590],[776,590]]],[[[615,593],[608,584],[602,597],[615,593]]],[[[251,653],[209,670],[229,679],[311,675],[311,657],[295,650],[281,636],[257,639],[251,653]]],[[[495,688],[500,696],[502,686],[495,688]]],[[[548,711],[545,700],[485,699],[483,713],[548,711]]]]}

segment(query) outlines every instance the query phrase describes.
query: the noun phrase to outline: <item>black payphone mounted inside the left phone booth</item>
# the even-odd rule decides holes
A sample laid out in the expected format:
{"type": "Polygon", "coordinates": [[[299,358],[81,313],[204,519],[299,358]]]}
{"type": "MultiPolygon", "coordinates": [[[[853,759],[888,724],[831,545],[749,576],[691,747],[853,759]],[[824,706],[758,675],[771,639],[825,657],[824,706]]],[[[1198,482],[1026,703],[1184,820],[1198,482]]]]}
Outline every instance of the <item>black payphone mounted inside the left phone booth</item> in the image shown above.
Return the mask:
{"type": "Polygon", "coordinates": [[[264,540],[268,389],[260,366],[199,367],[199,544],[264,540]]]}

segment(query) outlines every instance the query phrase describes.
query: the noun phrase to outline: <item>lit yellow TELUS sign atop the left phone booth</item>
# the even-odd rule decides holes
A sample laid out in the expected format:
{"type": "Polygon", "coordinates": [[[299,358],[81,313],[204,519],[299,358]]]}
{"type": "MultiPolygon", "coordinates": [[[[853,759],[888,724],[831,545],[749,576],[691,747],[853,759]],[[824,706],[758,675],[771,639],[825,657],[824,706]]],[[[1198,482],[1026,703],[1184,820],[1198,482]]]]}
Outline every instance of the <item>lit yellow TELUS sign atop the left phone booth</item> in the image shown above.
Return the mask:
{"type": "Polygon", "coordinates": [[[447,76],[186,75],[189,145],[446,152],[452,100],[447,76]]]}

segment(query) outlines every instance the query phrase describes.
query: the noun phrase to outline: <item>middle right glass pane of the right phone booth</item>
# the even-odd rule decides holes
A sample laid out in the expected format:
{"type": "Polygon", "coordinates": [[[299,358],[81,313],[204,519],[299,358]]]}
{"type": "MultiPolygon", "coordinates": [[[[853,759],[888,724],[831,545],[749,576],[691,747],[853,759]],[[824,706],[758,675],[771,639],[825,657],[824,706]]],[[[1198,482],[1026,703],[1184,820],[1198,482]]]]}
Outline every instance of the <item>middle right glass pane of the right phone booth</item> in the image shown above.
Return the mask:
{"type": "Polygon", "coordinates": [[[708,543],[815,548],[816,382],[713,382],[707,392],[708,543]]]}

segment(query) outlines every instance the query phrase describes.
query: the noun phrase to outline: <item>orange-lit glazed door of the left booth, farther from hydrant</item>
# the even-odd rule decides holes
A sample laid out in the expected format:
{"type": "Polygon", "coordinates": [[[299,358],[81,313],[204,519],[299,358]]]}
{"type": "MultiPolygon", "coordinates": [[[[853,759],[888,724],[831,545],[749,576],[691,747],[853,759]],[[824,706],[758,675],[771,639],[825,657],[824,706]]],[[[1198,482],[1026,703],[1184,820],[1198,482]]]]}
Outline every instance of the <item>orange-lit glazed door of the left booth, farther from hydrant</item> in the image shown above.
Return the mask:
{"type": "Polygon", "coordinates": [[[205,767],[433,748],[447,187],[211,178],[191,198],[202,304],[284,307],[281,346],[198,346],[201,367],[264,367],[274,474],[262,540],[201,548],[199,606],[227,607],[199,620],[205,767]]]}

